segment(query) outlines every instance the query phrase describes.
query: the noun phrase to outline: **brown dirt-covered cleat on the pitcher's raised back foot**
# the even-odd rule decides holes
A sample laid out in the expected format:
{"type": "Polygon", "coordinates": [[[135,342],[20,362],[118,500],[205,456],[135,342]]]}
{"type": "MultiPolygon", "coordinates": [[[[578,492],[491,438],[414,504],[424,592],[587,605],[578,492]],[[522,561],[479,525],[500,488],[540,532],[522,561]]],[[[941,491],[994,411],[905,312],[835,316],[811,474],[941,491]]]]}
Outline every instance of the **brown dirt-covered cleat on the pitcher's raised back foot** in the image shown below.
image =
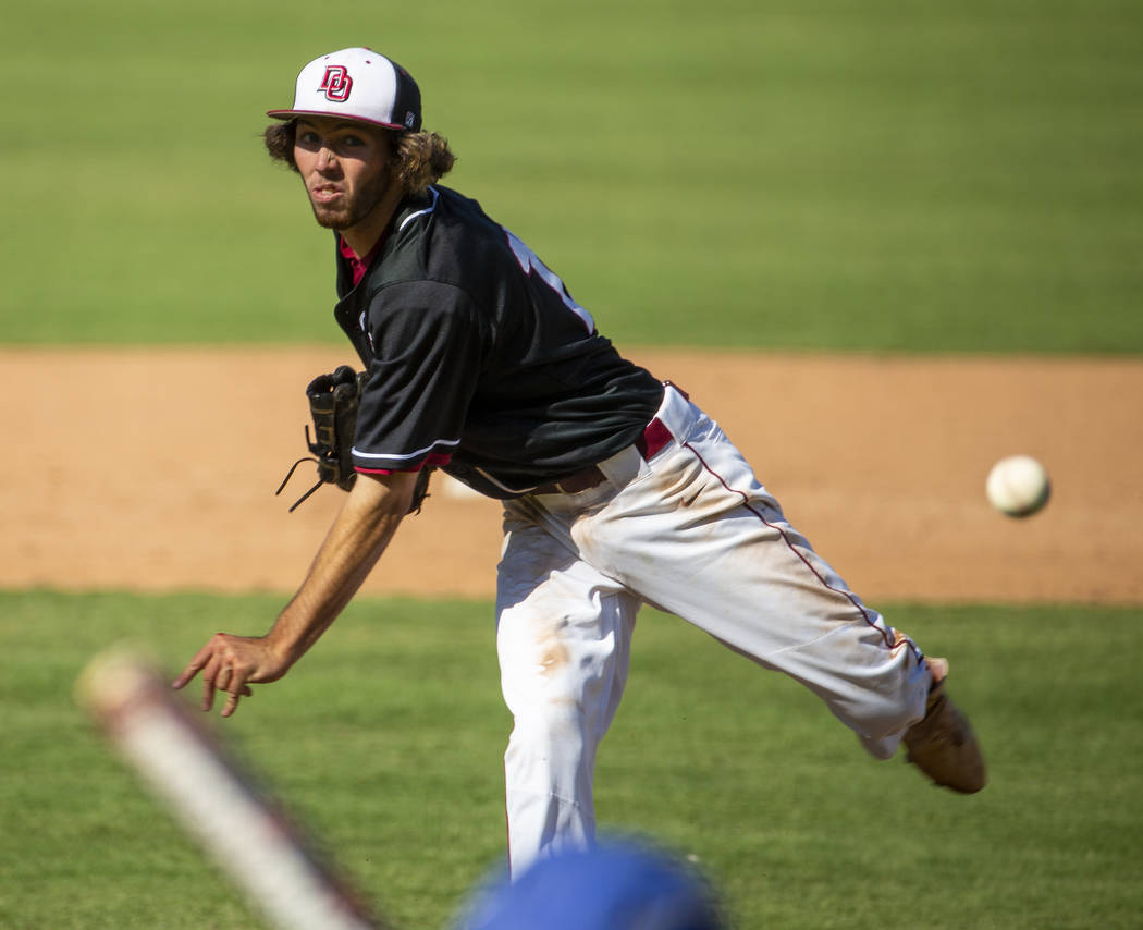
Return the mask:
{"type": "Polygon", "coordinates": [[[976,794],[988,784],[984,758],[973,728],[944,692],[944,678],[929,690],[925,720],[905,731],[905,761],[937,785],[976,794]]]}

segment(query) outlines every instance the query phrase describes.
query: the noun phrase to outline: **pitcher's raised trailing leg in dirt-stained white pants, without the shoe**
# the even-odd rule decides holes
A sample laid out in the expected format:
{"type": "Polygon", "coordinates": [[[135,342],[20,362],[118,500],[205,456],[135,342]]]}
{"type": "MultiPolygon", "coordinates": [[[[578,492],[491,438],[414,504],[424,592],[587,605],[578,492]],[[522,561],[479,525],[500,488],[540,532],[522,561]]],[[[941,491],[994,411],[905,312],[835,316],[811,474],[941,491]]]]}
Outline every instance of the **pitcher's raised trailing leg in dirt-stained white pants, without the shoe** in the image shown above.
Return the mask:
{"type": "Polygon", "coordinates": [[[647,603],[812,689],[888,758],[925,715],[920,650],[790,525],[716,423],[676,407],[678,442],[649,463],[633,451],[606,463],[620,490],[572,525],[574,543],[647,603]]]}

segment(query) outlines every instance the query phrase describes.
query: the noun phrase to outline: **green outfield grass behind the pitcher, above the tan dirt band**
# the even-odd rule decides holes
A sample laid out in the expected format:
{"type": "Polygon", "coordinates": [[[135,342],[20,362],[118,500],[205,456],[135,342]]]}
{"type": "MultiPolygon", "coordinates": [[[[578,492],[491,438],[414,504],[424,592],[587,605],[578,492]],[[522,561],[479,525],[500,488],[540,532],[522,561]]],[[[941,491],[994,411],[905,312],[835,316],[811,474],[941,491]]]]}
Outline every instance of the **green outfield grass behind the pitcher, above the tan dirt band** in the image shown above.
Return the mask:
{"type": "Polygon", "coordinates": [[[1143,351],[1132,0],[15,5],[0,343],[339,339],[258,135],[357,43],[621,344],[1143,351]]]}

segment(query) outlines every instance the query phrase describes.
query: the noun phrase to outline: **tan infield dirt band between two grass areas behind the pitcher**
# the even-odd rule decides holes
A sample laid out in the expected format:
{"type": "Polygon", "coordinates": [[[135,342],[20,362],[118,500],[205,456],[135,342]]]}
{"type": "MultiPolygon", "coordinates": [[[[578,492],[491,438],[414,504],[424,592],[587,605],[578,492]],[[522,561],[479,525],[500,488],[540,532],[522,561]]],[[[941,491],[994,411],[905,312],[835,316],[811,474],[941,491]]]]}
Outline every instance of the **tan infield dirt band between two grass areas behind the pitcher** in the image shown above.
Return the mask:
{"type": "MultiPolygon", "coordinates": [[[[870,603],[1143,603],[1143,360],[628,351],[689,391],[789,519],[870,603]],[[1004,455],[1053,499],[988,506],[1004,455]]],[[[336,347],[0,350],[16,455],[0,586],[296,588],[342,501],[303,466],[336,347]]],[[[365,590],[491,597],[499,506],[438,476],[365,590]]]]}

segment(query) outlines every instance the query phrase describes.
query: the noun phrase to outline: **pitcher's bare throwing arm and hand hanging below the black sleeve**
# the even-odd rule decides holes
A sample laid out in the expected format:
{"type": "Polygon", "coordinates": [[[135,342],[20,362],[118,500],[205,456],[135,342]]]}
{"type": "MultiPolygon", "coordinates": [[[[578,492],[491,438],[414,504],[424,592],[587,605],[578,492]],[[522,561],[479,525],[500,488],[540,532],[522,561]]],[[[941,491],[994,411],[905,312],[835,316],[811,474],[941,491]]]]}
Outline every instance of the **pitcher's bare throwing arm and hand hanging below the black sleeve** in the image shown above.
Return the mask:
{"type": "Polygon", "coordinates": [[[183,687],[202,673],[202,709],[226,691],[229,717],[249,684],[282,677],[342,612],[385,551],[409,509],[416,472],[361,475],[334,519],[302,587],[265,636],[218,633],[173,682],[183,687]]]}

